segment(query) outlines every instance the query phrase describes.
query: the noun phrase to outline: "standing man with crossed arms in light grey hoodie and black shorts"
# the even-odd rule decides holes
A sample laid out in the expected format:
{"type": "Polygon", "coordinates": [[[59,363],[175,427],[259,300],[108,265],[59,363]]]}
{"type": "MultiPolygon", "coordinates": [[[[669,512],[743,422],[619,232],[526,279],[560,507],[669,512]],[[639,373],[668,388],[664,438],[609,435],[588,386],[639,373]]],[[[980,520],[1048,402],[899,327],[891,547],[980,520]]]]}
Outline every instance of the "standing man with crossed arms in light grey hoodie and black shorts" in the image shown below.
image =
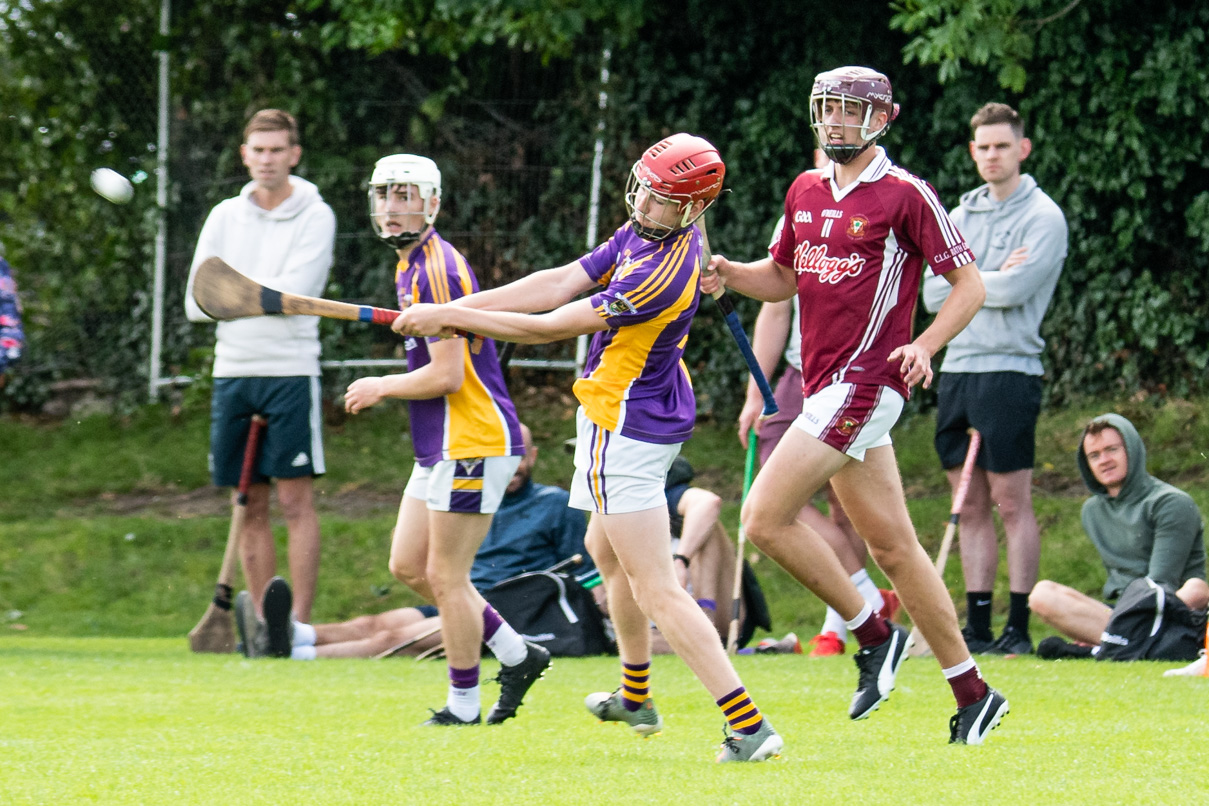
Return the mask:
{"type": "MultiPolygon", "coordinates": [[[[1032,150],[1024,122],[1007,104],[987,104],[970,121],[970,156],[987,181],[961,197],[953,222],[978,255],[987,301],[944,352],[937,385],[936,452],[956,489],[970,446],[982,448],[961,509],[961,572],[967,615],[961,633],[972,653],[1024,655],[1029,591],[1037,581],[1041,533],[1032,512],[1032,463],[1041,413],[1041,319],[1066,259],[1066,219],[1020,163],[1032,150]],[[991,633],[999,568],[993,512],[1007,535],[1011,595],[1007,626],[991,633]]],[[[949,284],[924,280],[924,307],[941,309],[949,284]]]]}

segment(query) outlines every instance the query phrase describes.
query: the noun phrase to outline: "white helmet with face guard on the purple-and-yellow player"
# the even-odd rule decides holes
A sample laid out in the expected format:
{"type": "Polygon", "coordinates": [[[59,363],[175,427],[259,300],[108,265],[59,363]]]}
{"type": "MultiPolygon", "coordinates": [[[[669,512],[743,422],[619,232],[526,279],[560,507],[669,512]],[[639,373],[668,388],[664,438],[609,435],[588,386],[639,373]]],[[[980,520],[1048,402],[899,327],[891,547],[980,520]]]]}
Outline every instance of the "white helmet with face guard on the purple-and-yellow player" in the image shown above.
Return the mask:
{"type": "Polygon", "coordinates": [[[374,166],[369,185],[370,225],[374,233],[392,249],[415,243],[436,220],[441,205],[441,172],[428,157],[397,153],[382,157],[374,166]],[[400,209],[399,198],[410,199],[410,189],[418,193],[418,210],[400,209]],[[399,193],[404,190],[404,193],[399,193]],[[393,231],[392,231],[393,230],[393,231]]]}

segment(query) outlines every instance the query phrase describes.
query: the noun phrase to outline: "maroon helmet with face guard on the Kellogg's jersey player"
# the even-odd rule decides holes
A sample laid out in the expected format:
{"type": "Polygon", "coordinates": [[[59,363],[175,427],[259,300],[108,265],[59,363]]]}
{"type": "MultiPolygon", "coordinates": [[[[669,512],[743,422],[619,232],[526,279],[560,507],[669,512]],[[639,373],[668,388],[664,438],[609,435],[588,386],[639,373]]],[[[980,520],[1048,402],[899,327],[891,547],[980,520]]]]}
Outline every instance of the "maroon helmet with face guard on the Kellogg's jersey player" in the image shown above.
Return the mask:
{"type": "Polygon", "coordinates": [[[810,128],[823,153],[841,166],[856,160],[884,137],[897,116],[898,104],[893,103],[890,80],[875,70],[840,68],[815,77],[810,92],[810,128]],[[831,120],[828,108],[832,110],[831,120]],[[885,112],[886,121],[870,131],[877,112],[885,112]],[[840,143],[833,143],[828,137],[828,129],[837,127],[844,132],[840,143]],[[857,143],[850,141],[854,139],[849,137],[852,131],[857,134],[857,143]]]}

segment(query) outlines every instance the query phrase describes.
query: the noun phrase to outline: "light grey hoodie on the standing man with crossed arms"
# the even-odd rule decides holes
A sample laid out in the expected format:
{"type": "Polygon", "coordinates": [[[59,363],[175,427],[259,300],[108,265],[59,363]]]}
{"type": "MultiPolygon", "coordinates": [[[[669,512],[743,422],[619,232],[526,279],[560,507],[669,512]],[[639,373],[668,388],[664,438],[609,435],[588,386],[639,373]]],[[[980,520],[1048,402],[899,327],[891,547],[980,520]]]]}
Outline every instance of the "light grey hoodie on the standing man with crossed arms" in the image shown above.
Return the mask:
{"type": "MultiPolygon", "coordinates": [[[[1002,202],[983,185],[961,197],[951,214],[974,253],[987,301],[944,353],[942,372],[1023,372],[1043,375],[1041,319],[1049,307],[1066,260],[1066,219],[1028,174],[1002,202]],[[1019,247],[1028,260],[1008,271],[1003,261],[1019,247]]],[[[948,280],[924,278],[924,307],[936,313],[949,296],[948,280]]]]}

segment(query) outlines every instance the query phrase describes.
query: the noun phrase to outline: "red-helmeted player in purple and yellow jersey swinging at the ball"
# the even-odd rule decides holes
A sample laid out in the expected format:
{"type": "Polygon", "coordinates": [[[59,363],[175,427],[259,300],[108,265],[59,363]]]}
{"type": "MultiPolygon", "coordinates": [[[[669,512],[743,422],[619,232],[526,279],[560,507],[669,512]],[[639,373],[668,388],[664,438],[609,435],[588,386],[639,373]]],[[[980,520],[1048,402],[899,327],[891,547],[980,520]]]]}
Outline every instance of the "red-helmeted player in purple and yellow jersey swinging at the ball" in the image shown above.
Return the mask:
{"type": "Polygon", "coordinates": [[[591,512],[588,549],[604,578],[623,682],[585,704],[642,736],[663,729],[650,698],[654,621],[727,717],[730,732],[717,760],[760,761],[783,742],[747,695],[713,625],[677,582],[664,493],[695,418],[682,360],[700,300],[694,221],[717,198],[724,175],[706,140],[683,133],[660,140],[634,163],[630,220],[603,244],[451,305],[412,306],[394,327],[424,336],[462,329],[522,343],[592,334],[574,385],[580,408],[571,505],[591,512]],[[591,295],[575,300],[585,291],[591,295]]]}

